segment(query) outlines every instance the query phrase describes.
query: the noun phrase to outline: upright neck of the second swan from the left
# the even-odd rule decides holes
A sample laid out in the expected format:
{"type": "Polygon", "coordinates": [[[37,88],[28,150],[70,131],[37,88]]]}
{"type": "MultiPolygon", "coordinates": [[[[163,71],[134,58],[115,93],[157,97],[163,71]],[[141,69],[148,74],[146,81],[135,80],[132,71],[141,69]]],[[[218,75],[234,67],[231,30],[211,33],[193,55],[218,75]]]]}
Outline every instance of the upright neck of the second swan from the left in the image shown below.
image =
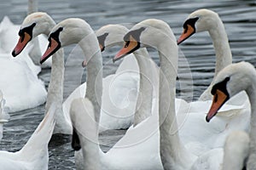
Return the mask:
{"type": "Polygon", "coordinates": [[[86,92],[85,98],[90,99],[94,106],[96,122],[99,122],[102,105],[102,54],[98,46],[95,33],[92,33],[79,42],[86,56],[86,92]]]}

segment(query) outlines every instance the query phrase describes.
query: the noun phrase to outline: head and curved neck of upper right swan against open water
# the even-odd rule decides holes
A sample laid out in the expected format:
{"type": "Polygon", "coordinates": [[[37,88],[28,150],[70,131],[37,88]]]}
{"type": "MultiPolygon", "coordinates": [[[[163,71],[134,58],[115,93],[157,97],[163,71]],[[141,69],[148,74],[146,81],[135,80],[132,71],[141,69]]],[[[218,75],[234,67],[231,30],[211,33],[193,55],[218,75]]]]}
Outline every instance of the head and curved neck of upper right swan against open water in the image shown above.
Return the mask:
{"type": "MultiPolygon", "coordinates": [[[[177,44],[185,41],[187,38],[195,34],[195,32],[208,31],[212,37],[213,47],[216,54],[215,73],[212,83],[218,72],[226,65],[232,63],[232,54],[227,33],[222,20],[218,14],[209,9],[198,9],[189,14],[188,19],[183,24],[183,33],[177,39],[177,44]]],[[[211,85],[201,94],[199,100],[211,100],[211,85]]]]}

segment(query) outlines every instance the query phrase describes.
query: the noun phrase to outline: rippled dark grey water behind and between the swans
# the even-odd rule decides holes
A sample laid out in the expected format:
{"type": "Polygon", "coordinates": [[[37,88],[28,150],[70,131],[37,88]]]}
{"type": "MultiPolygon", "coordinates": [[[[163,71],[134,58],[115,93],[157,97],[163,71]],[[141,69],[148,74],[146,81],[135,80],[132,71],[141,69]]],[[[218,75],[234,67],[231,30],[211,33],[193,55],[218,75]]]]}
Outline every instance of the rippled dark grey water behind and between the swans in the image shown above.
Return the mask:
{"type": "MultiPolygon", "coordinates": [[[[4,15],[15,23],[20,24],[26,17],[26,0],[0,1],[0,19],[4,15]]],[[[40,11],[50,14],[56,22],[69,17],[79,17],[90,23],[93,29],[98,29],[106,24],[128,23],[135,24],[148,18],[165,20],[174,31],[176,37],[183,31],[183,21],[187,15],[198,8],[209,8],[220,15],[224,21],[224,26],[230,39],[230,48],[233,54],[233,62],[246,60],[256,65],[256,3],[254,1],[222,1],[206,3],[205,1],[149,1],[141,0],[136,2],[125,0],[41,0],[38,6],[40,11]]],[[[65,49],[66,56],[70,54],[74,47],[65,49]]],[[[212,48],[211,38],[206,32],[198,33],[189,40],[183,42],[180,46],[192,71],[194,94],[193,96],[184,94],[180,95],[183,99],[197,99],[204,89],[211,82],[214,72],[214,50],[212,48]]],[[[109,62],[118,48],[108,49],[104,52],[104,76],[113,73],[119,63],[109,62]]],[[[150,49],[150,54],[157,54],[150,49]]],[[[73,80],[76,72],[74,68],[80,66],[83,55],[76,49],[74,57],[69,61],[66,67],[65,80],[65,98],[74,88],[79,85],[79,81],[73,80]],[[78,61],[78,62],[76,62],[78,61]],[[77,81],[77,82],[75,82],[77,81]]],[[[68,58],[70,59],[70,58],[68,58]]],[[[79,67],[80,68],[80,67],[79,67]]],[[[179,72],[186,72],[187,68],[180,66],[179,72]]],[[[50,70],[44,70],[39,75],[48,86],[50,70]]],[[[84,77],[83,77],[84,80],[84,77]]],[[[179,77],[181,82],[186,82],[183,74],[179,77]]],[[[81,81],[80,81],[81,82],[81,81]]],[[[191,82],[188,82],[188,84],[191,82]]],[[[179,87],[179,86],[178,86],[179,87]]],[[[179,88],[177,87],[177,92],[179,88]]],[[[186,88],[185,88],[186,89],[186,88]]],[[[20,111],[11,114],[11,119],[4,125],[4,136],[0,144],[1,150],[16,151],[26,144],[27,139],[31,136],[38,123],[43,119],[44,105],[38,106],[27,111],[20,111]]],[[[111,131],[101,135],[103,150],[108,150],[109,145],[114,144],[124,131],[111,131]]],[[[70,136],[54,136],[49,144],[49,169],[74,169],[73,150],[70,146],[70,136]]]]}

